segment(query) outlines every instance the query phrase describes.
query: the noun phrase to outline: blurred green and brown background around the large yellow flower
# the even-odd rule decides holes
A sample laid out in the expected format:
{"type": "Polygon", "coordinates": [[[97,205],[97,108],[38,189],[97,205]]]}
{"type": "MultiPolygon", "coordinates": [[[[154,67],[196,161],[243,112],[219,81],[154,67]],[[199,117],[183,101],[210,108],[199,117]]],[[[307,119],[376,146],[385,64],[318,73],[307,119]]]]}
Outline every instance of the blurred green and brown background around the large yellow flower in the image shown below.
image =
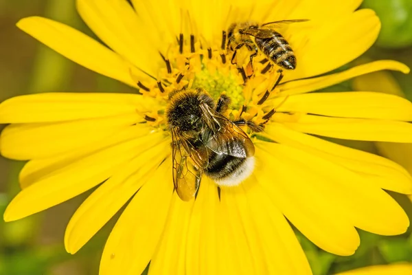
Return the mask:
{"type": "MultiPolygon", "coordinates": [[[[23,17],[41,15],[93,36],[76,14],[74,1],[0,0],[0,101],[20,94],[47,91],[133,92],[121,83],[75,65],[15,27],[15,23],[23,17]]],[[[367,0],[363,7],[373,8],[382,21],[382,32],[376,45],[363,58],[394,59],[412,67],[412,1],[367,0]]],[[[392,76],[398,80],[407,98],[412,100],[411,76],[400,73],[393,73],[392,76]]],[[[351,87],[351,83],[347,82],[328,90],[345,91],[351,87]]],[[[334,141],[375,151],[371,143],[334,141]]],[[[0,158],[0,213],[19,192],[17,177],[22,165],[21,162],[0,158]]],[[[97,275],[104,241],[116,217],[77,254],[67,254],[63,246],[65,226],[87,195],[89,192],[21,221],[0,221],[0,275],[97,275]]],[[[412,217],[411,201],[406,196],[391,195],[412,217]]],[[[314,275],[335,274],[356,267],[399,261],[412,263],[410,232],[392,237],[360,232],[361,247],[350,257],[323,252],[299,232],[297,234],[314,275]]]]}

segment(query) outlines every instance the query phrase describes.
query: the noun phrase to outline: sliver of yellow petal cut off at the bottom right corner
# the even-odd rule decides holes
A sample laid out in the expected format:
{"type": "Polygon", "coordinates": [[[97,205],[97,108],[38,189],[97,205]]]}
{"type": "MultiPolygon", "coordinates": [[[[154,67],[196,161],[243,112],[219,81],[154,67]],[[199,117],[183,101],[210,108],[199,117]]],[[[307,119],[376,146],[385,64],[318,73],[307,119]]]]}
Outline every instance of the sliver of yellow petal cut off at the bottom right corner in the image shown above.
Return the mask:
{"type": "Polygon", "coordinates": [[[412,275],[412,264],[393,263],[391,265],[374,265],[336,275],[412,275]]]}

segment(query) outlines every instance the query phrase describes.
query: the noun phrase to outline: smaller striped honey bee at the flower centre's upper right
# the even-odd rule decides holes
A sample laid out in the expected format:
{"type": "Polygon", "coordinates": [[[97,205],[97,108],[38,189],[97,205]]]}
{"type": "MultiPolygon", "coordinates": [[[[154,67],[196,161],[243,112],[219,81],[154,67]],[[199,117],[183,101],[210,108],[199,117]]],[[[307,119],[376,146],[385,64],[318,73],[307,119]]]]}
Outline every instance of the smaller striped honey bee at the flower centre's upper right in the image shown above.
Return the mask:
{"type": "MultiPolygon", "coordinates": [[[[273,26],[281,23],[304,22],[308,19],[282,20],[264,23],[259,25],[255,22],[233,23],[227,30],[227,49],[233,52],[231,63],[235,64],[236,52],[243,46],[253,54],[250,56],[250,63],[253,64],[253,57],[258,55],[258,49],[279,67],[283,69],[296,68],[296,56],[288,41],[282,34],[273,30],[273,26]],[[254,38],[254,41],[252,40],[254,38]]],[[[269,67],[268,67],[269,69],[269,67]]]]}

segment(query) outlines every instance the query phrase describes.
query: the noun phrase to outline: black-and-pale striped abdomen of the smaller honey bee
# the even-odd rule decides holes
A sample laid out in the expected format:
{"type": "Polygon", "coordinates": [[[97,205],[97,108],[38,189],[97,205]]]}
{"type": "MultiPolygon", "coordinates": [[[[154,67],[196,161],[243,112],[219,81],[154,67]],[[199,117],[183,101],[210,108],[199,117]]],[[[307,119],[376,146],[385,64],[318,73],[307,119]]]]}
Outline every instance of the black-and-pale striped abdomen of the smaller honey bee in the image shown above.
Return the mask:
{"type": "Polygon", "coordinates": [[[284,69],[296,68],[295,54],[288,41],[286,41],[279,32],[273,31],[273,36],[268,39],[259,39],[256,37],[255,43],[275,64],[284,69]]]}

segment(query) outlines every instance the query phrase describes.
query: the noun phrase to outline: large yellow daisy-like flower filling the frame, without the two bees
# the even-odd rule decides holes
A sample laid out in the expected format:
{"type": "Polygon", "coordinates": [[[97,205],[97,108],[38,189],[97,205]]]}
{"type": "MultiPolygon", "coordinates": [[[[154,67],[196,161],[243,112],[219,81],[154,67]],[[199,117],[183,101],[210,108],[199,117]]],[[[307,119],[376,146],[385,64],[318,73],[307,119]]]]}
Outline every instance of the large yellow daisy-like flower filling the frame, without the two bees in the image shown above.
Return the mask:
{"type": "MultiPolygon", "coordinates": [[[[78,11],[108,47],[67,25],[30,17],[19,28],[72,61],[130,86],[136,94],[38,94],[6,100],[1,153],[29,160],[5,211],[21,219],[98,186],[71,218],[65,246],[77,252],[127,201],[105,245],[100,274],[310,274],[290,223],[323,250],[353,254],[355,228],[404,232],[409,220],[382,190],[412,192],[398,164],[326,140],[412,142],[412,104],[372,92],[310,93],[369,72],[409,69],[376,61],[319,76],[360,56],[380,23],[359,0],[78,0],[78,11]],[[264,73],[260,53],[222,47],[231,23],[280,20],[294,70],[264,73]],[[183,37],[183,39],[182,39],[183,37]],[[160,54],[159,54],[160,53],[160,54]],[[319,76],[312,78],[313,76],[319,76]],[[260,124],[253,174],[221,188],[203,177],[196,199],[174,192],[168,94],[203,88],[232,98],[227,118],[260,124]],[[267,93],[266,93],[267,91],[267,93]],[[267,100],[262,98],[267,96],[267,100]],[[288,220],[286,220],[286,218],[288,220]]],[[[53,69],[53,68],[50,68],[53,69]]],[[[244,129],[247,131],[247,129],[244,129]]]]}

